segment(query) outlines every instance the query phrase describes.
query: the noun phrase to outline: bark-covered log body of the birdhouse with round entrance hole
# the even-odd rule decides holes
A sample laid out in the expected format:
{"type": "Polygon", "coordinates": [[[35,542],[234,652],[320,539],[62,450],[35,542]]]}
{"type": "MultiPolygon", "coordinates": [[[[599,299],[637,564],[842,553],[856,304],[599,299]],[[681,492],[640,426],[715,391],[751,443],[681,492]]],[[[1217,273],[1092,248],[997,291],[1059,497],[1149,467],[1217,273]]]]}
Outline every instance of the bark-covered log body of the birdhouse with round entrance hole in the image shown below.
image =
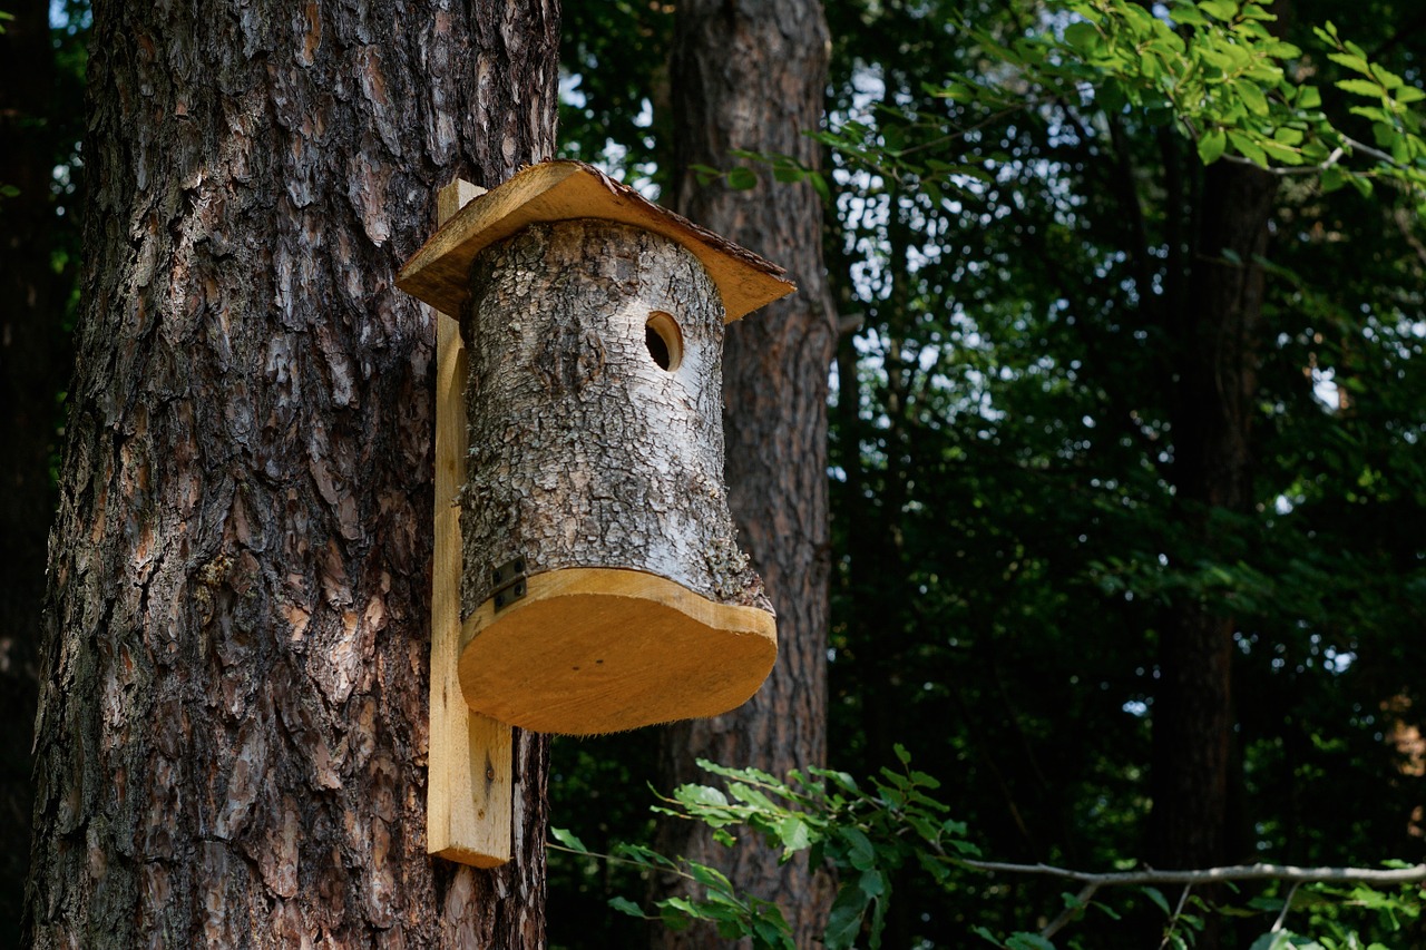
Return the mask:
{"type": "Polygon", "coordinates": [[[771,609],[727,511],[723,307],[690,251],[613,221],[532,225],[476,257],[462,335],[466,615],[515,558],[771,609]],[[655,312],[679,328],[672,371],[649,348],[655,312]]]}

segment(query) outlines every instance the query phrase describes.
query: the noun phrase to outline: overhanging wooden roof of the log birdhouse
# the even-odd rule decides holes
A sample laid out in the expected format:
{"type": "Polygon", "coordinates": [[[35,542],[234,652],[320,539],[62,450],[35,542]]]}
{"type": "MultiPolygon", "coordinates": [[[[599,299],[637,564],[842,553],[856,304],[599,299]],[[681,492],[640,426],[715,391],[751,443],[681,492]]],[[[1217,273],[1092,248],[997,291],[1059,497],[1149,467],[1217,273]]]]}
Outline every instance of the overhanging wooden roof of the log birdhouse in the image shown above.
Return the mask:
{"type": "Polygon", "coordinates": [[[463,208],[406,262],[396,287],[439,311],[459,314],[471,261],[482,248],[538,221],[575,218],[622,221],[689,248],[717,285],[727,322],[797,290],[776,264],[580,161],[545,161],[525,168],[463,208]]]}

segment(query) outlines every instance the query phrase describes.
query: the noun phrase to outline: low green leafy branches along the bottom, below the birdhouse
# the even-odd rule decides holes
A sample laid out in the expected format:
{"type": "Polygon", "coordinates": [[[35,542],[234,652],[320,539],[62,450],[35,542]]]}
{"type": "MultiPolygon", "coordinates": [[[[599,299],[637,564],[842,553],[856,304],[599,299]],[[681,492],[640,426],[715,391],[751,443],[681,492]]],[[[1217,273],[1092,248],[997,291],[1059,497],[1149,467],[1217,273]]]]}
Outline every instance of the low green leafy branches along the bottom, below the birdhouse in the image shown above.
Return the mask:
{"type": "MultiPolygon", "coordinates": [[[[763,839],[769,847],[780,849],[787,862],[800,852],[809,852],[816,866],[829,869],[837,880],[824,946],[846,950],[853,946],[880,947],[886,931],[887,909],[893,899],[893,879],[897,870],[914,867],[937,889],[951,893],[964,886],[967,876],[983,872],[1045,873],[1088,882],[1078,894],[1061,894],[1062,913],[1038,931],[1017,930],[1004,937],[990,927],[971,926],[970,930],[988,943],[1007,950],[1052,950],[1051,937],[1068,924],[1097,910],[1107,919],[1119,921],[1121,913],[1102,900],[1094,900],[1101,887],[1129,884],[1165,917],[1162,946],[1191,947],[1211,914],[1246,919],[1262,930],[1253,950],[1285,947],[1318,947],[1338,950],[1366,947],[1358,931],[1358,920],[1365,917],[1373,930],[1400,934],[1405,926],[1422,916],[1426,907],[1423,869],[1393,863],[1392,867],[1410,873],[1410,883],[1397,887],[1366,883],[1288,883],[1301,869],[1219,869],[1221,880],[1266,879],[1268,887],[1256,896],[1232,903],[1211,906],[1185,884],[1178,900],[1171,902],[1159,886],[1141,883],[1155,880],[1155,872],[1085,874],[1060,872],[1045,866],[1002,866],[978,862],[975,844],[967,840],[965,824],[945,817],[950,807],[930,793],[940,789],[934,777],[913,770],[910,755],[897,746],[897,769],[881,769],[863,790],[851,776],[826,769],[807,769],[777,779],[760,769],[729,769],[709,762],[699,765],[726,780],[722,787],[684,785],[673,797],[662,799],[653,812],[682,820],[693,820],[713,829],[714,839],[732,846],[737,832],[763,839]],[[1292,914],[1306,929],[1302,934],[1285,927],[1292,914]],[[1375,917],[1375,921],[1372,920],[1375,917]],[[1271,921],[1271,923],[1269,923],[1271,921]],[[1313,934],[1313,936],[1308,936],[1313,934]]],[[[619,844],[612,854],[593,853],[570,832],[553,830],[559,844],[552,849],[578,854],[592,862],[629,864],[645,874],[679,874],[694,882],[702,897],[669,897],[655,902],[659,911],[649,916],[627,897],[612,897],[609,906],[620,913],[659,920],[674,930],[696,921],[709,921],[724,939],[747,939],[756,950],[793,950],[791,933],[781,910],[754,894],[749,894],[722,872],[689,862],[670,859],[640,844],[619,844]]],[[[1201,876],[1215,872],[1201,872],[1201,876]]],[[[1316,869],[1320,876],[1323,869],[1316,869]]],[[[1343,877],[1370,876],[1370,870],[1343,869],[1330,872],[1343,877]]],[[[1175,880],[1174,873],[1158,877],[1164,883],[1175,880]]],[[[1372,944],[1379,946],[1379,944],[1372,944]]]]}

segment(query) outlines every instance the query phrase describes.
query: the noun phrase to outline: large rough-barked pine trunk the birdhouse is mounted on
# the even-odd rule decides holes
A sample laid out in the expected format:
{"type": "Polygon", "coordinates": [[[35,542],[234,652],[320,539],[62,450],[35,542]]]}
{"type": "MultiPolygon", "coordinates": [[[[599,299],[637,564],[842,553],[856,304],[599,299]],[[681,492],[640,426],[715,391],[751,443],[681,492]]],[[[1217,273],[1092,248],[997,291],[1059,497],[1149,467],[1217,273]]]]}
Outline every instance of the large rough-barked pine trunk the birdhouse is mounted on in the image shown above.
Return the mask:
{"type": "Polygon", "coordinates": [[[34,946],[543,940],[425,853],[436,190],[553,145],[558,13],[103,4],[50,562],[34,946]]]}

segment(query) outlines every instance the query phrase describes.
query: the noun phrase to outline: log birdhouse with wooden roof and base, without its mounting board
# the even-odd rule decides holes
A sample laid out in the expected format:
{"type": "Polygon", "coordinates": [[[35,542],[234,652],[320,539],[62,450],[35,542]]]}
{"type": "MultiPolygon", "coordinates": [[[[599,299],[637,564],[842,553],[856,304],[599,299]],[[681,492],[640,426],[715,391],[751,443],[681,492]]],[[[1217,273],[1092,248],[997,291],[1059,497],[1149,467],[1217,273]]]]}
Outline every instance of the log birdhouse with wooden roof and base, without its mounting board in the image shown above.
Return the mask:
{"type": "Polygon", "coordinates": [[[466,354],[466,705],[589,735],[747,700],[776,622],[727,511],[722,347],[793,290],[780,268],[550,161],[456,213],[398,285],[458,315],[466,354]]]}

